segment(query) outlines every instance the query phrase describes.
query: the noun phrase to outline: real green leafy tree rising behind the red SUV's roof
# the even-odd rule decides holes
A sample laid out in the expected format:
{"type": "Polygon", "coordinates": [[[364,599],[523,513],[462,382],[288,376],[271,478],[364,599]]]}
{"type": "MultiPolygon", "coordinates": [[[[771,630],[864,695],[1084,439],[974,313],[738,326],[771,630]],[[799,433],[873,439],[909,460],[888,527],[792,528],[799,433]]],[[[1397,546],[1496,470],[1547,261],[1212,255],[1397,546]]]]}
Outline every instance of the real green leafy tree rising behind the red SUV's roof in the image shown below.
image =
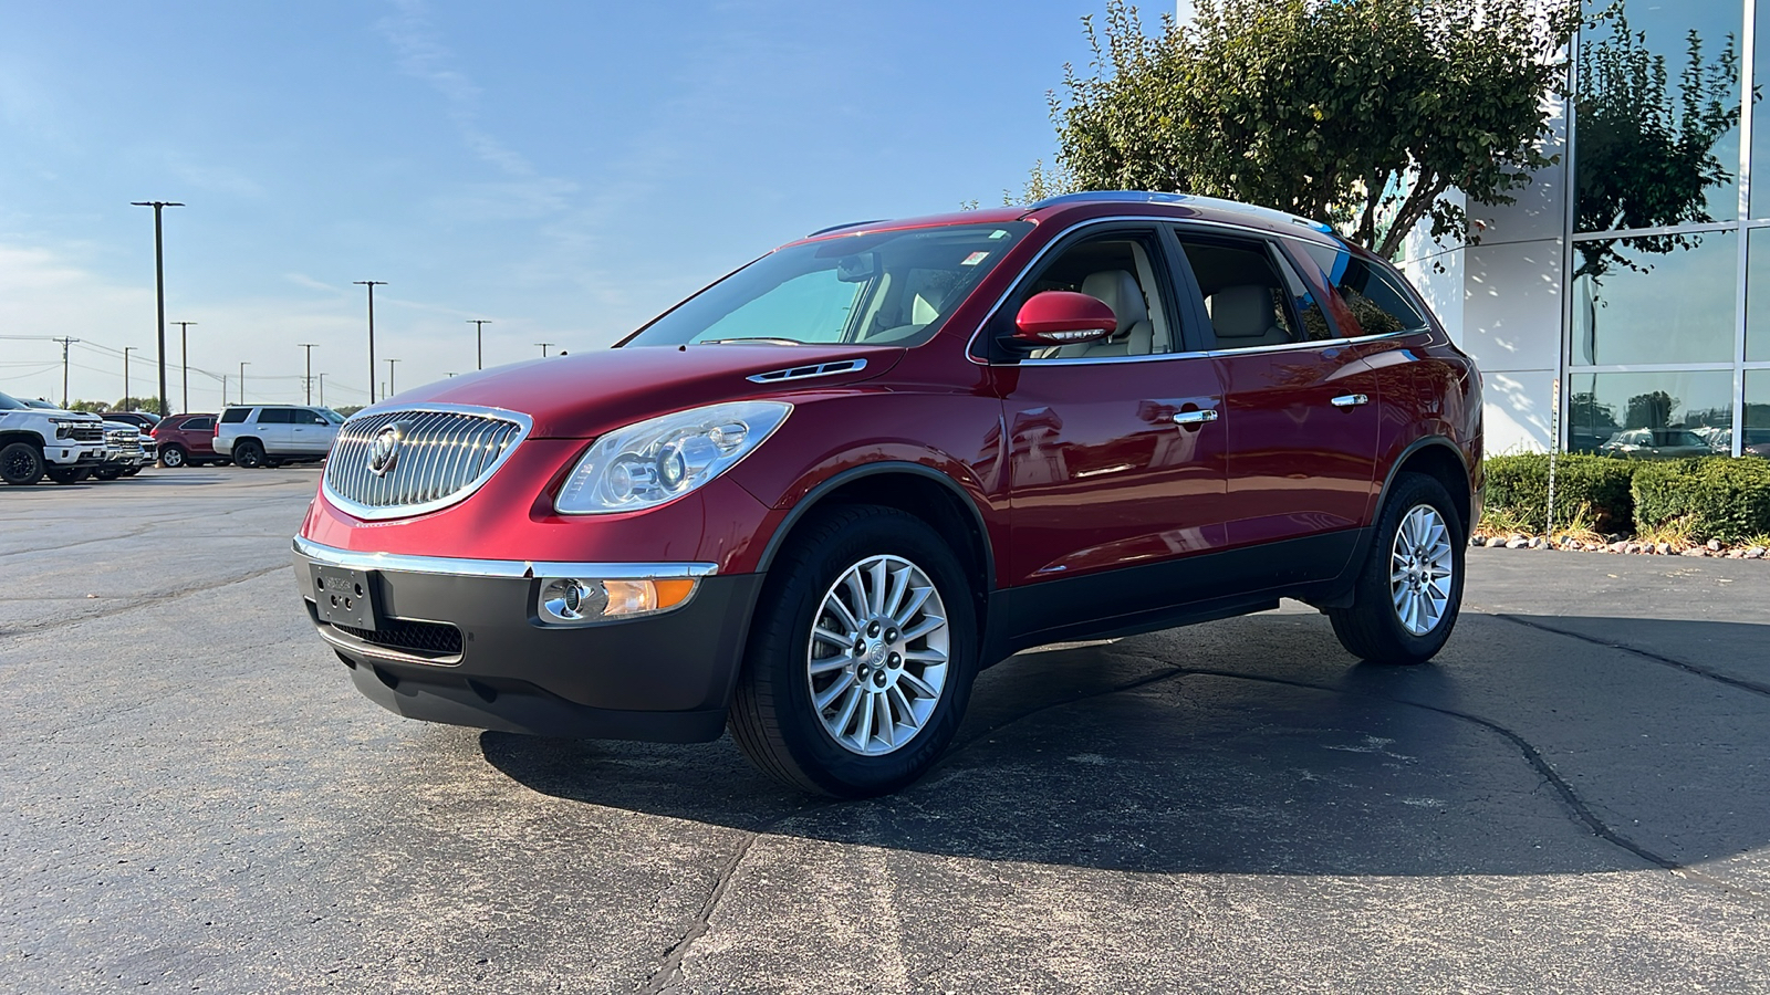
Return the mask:
{"type": "Polygon", "coordinates": [[[1228,197],[1333,223],[1393,257],[1421,220],[1474,241],[1471,202],[1556,159],[1543,97],[1565,96],[1581,23],[1566,0],[1200,0],[1145,35],[1108,0],[1085,18],[1092,73],[1051,96],[1078,189],[1228,197]],[[1104,35],[1104,37],[1103,37],[1104,35]]]}

